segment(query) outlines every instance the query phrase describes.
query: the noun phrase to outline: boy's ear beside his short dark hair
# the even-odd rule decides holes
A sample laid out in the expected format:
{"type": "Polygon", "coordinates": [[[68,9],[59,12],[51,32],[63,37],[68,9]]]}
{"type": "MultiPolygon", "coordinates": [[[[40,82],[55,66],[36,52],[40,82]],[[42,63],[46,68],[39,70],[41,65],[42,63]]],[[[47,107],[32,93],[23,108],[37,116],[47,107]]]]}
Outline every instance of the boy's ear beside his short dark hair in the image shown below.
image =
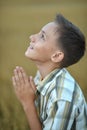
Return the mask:
{"type": "Polygon", "coordinates": [[[52,56],[51,56],[51,61],[54,63],[60,63],[64,58],[64,53],[62,51],[56,51],[52,56]]]}

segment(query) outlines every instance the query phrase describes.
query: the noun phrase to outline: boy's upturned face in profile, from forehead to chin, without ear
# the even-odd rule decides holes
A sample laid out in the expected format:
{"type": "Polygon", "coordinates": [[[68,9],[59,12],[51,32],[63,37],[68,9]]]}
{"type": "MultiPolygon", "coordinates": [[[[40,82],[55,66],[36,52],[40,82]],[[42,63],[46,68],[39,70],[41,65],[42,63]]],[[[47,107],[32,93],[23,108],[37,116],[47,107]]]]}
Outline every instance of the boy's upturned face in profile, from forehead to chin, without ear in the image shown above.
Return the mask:
{"type": "Polygon", "coordinates": [[[30,36],[30,46],[25,55],[34,61],[47,62],[51,60],[58,47],[56,45],[56,23],[45,25],[37,34],[30,36]]]}

